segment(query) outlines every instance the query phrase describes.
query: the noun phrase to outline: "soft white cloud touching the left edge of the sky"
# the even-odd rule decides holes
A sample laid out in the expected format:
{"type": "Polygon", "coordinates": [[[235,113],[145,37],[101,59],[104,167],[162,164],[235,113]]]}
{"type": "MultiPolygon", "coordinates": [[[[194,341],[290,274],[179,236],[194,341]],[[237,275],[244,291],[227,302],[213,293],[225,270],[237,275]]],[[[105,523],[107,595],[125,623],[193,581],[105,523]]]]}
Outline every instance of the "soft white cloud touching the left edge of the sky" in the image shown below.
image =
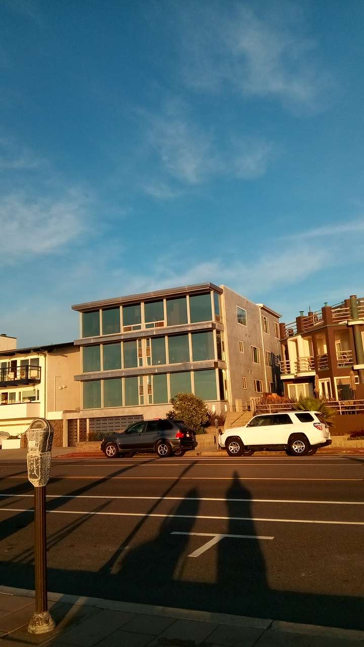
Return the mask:
{"type": "Polygon", "coordinates": [[[49,254],[76,238],[85,227],[87,198],[78,190],[64,197],[32,198],[10,194],[0,204],[0,234],[3,264],[17,256],[49,254]]]}

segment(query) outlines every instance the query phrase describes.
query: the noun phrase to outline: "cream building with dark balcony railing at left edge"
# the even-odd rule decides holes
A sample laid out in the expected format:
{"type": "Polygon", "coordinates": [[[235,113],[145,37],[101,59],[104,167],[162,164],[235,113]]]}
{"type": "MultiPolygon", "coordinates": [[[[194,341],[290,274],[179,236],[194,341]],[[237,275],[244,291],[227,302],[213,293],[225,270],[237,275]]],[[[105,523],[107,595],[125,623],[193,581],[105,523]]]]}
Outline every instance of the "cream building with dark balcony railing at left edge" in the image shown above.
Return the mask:
{"type": "Polygon", "coordinates": [[[22,435],[32,419],[54,427],[54,446],[67,445],[64,411],[80,410],[80,349],[73,342],[16,348],[16,338],[0,335],[0,431],[22,435]]]}

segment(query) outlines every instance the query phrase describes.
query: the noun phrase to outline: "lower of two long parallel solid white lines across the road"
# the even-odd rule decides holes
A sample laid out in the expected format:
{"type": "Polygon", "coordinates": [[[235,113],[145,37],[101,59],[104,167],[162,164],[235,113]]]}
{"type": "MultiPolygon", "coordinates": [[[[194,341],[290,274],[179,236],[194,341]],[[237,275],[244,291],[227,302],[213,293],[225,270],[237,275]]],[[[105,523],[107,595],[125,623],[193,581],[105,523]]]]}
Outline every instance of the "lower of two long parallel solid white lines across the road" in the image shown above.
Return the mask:
{"type": "MultiPolygon", "coordinates": [[[[34,508],[0,508],[0,512],[34,512],[34,508]]],[[[105,517],[157,517],[162,519],[194,519],[213,521],[271,521],[277,523],[319,523],[324,525],[359,525],[364,521],[320,521],[316,519],[271,519],[266,517],[227,517],[207,514],[158,514],[157,512],[84,512],[83,510],[46,510],[47,514],[80,514],[80,516],[105,517]]]]}

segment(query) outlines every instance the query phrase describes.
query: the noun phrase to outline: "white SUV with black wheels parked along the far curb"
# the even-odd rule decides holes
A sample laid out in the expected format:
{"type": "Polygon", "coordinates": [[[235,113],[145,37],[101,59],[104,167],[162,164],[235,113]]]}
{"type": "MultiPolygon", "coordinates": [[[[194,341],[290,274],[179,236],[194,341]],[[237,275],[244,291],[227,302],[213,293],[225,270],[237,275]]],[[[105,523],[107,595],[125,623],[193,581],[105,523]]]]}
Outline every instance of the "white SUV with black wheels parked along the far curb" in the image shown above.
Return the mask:
{"type": "Polygon", "coordinates": [[[220,447],[229,456],[251,456],[263,450],[305,456],[331,443],[328,426],[317,411],[262,413],[245,426],[227,429],[219,435],[220,447]]]}

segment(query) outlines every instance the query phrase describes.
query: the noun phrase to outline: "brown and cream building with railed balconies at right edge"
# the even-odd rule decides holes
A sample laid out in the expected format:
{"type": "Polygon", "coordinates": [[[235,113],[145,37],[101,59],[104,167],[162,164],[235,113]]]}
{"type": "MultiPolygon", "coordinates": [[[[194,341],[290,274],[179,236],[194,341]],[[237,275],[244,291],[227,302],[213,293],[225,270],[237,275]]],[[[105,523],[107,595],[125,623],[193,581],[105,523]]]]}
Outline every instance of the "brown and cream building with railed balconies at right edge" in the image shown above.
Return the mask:
{"type": "Polygon", "coordinates": [[[313,396],[317,376],[321,397],[364,399],[364,299],[353,295],[315,313],[301,312],[295,322],[280,323],[280,336],[286,395],[313,396]]]}

